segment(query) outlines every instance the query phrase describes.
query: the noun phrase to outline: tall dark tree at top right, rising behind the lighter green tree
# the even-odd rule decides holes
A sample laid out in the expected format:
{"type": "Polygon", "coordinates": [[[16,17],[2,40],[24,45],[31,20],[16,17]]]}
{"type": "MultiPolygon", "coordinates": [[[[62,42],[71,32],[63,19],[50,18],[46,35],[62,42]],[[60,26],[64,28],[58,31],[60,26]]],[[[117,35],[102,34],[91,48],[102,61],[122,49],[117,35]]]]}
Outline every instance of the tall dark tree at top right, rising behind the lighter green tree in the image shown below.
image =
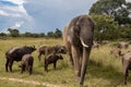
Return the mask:
{"type": "Polygon", "coordinates": [[[131,24],[131,2],[126,2],[126,0],[98,0],[90,9],[90,14],[110,15],[119,25],[131,24]]]}

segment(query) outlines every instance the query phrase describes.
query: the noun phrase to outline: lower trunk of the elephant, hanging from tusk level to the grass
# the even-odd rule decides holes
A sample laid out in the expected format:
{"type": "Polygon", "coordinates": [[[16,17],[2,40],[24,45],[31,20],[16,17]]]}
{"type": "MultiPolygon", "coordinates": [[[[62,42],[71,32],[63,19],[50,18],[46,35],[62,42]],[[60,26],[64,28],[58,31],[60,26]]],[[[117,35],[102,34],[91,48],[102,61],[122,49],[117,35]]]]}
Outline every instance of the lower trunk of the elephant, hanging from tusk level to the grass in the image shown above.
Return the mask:
{"type": "Polygon", "coordinates": [[[90,52],[91,52],[91,47],[83,47],[83,60],[82,60],[81,78],[80,78],[81,87],[83,87],[83,82],[87,69],[87,62],[90,59],[90,52]]]}

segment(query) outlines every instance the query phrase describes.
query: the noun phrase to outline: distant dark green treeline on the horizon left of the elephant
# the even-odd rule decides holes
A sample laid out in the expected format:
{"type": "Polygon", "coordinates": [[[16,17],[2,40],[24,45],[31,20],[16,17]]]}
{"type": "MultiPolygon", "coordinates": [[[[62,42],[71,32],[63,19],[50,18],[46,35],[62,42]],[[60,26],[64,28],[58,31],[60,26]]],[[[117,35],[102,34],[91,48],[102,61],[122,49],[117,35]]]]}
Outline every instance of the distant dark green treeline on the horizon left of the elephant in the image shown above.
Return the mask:
{"type": "Polygon", "coordinates": [[[29,32],[25,32],[24,34],[21,34],[19,29],[14,29],[14,28],[8,28],[8,32],[9,32],[9,34],[0,33],[0,38],[5,38],[5,37],[61,38],[62,37],[62,32],[59,28],[56,28],[56,32],[48,32],[47,34],[45,34],[45,33],[29,33],[29,32]]]}

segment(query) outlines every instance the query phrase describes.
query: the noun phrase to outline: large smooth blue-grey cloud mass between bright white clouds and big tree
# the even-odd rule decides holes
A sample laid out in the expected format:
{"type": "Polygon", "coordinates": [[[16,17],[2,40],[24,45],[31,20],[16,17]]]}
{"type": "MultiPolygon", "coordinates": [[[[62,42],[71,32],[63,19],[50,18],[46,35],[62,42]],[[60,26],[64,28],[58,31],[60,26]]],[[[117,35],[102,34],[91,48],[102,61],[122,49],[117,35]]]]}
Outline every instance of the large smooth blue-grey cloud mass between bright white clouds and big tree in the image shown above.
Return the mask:
{"type": "Polygon", "coordinates": [[[62,29],[74,16],[87,14],[96,0],[28,0],[24,4],[27,13],[34,17],[39,30],[62,29]]]}

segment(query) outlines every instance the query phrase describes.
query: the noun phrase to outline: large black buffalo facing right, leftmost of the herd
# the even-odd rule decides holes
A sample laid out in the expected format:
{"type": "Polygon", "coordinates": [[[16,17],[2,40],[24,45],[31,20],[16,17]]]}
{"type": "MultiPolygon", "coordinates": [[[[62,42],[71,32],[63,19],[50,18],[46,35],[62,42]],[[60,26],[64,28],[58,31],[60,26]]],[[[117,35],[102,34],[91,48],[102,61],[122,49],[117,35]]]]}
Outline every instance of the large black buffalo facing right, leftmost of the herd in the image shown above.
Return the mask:
{"type": "Polygon", "coordinates": [[[13,65],[14,61],[16,61],[16,62],[21,61],[22,57],[24,54],[32,53],[35,50],[36,50],[36,48],[34,46],[33,47],[27,47],[27,46],[13,47],[13,48],[9,49],[5,52],[5,58],[7,58],[5,71],[8,72],[8,66],[9,66],[10,72],[12,72],[12,65],[13,65]]]}

